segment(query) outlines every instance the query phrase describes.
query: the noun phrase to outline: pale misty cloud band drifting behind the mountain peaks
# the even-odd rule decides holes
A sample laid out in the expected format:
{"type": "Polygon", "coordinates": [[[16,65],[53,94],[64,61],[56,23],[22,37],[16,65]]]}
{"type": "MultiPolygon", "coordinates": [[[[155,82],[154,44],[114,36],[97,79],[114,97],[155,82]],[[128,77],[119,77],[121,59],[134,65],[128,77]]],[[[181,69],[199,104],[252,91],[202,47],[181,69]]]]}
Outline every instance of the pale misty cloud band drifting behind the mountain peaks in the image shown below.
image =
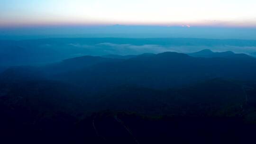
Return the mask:
{"type": "Polygon", "coordinates": [[[164,46],[164,45],[130,45],[130,44],[114,44],[114,43],[100,43],[96,45],[81,45],[69,44],[69,46],[79,49],[79,54],[88,55],[106,55],[106,54],[143,54],[143,53],[163,53],[163,52],[177,52],[177,53],[193,53],[203,49],[210,49],[214,52],[232,51],[234,53],[252,54],[256,53],[255,46],[164,46]]]}

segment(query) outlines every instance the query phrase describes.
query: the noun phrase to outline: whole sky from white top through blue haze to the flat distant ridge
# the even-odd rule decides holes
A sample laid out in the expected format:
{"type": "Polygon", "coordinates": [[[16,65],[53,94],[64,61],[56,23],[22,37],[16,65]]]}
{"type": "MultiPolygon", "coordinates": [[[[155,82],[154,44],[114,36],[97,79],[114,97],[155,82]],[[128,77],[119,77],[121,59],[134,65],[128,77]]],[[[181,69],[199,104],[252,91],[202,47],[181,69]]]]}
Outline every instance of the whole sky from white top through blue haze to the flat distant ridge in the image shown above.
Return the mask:
{"type": "Polygon", "coordinates": [[[256,0],[0,0],[0,39],[256,40],[256,0]]]}

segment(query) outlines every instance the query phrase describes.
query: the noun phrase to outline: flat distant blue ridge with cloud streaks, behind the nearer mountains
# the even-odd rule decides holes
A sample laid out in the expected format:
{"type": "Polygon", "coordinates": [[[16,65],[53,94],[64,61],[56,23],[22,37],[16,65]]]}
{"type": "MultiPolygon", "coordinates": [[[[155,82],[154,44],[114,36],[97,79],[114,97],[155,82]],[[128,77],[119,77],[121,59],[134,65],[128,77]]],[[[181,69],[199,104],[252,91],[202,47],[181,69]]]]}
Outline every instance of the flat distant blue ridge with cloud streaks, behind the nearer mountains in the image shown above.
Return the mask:
{"type": "MultiPolygon", "coordinates": [[[[180,48],[223,45],[234,47],[256,46],[255,40],[203,39],[203,38],[48,38],[34,40],[0,40],[0,66],[36,65],[58,62],[82,55],[115,54],[137,55],[160,53],[163,50],[181,51],[180,48]],[[122,47],[125,48],[122,48],[122,47]],[[137,47],[134,49],[134,46],[137,47]],[[142,46],[142,49],[140,48],[142,46]],[[121,48],[121,49],[119,49],[121,48]]],[[[229,49],[230,47],[227,46],[229,49]]],[[[225,48],[224,48],[225,49],[225,48]]],[[[236,50],[236,48],[234,48],[236,50]]],[[[112,55],[112,56],[111,56],[112,55]]],[[[120,57],[124,59],[130,56],[120,57]]]]}

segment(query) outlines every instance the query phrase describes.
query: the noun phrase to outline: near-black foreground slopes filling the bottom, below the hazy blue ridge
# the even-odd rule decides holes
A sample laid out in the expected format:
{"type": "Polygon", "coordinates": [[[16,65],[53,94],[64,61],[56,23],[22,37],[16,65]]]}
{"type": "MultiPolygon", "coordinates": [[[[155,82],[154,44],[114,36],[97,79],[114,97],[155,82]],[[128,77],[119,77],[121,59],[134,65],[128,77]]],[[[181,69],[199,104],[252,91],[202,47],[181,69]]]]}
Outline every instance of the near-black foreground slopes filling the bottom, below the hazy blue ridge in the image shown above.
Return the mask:
{"type": "Polygon", "coordinates": [[[244,91],[242,86],[237,81],[214,79],[164,91],[120,86],[88,97],[86,91],[57,82],[1,83],[0,133],[9,142],[17,140],[10,139],[15,135],[28,144],[38,139],[42,139],[39,143],[133,143],[133,136],[141,144],[204,144],[209,137],[212,143],[221,143],[235,136],[234,143],[241,144],[251,140],[255,128],[244,123],[255,115],[251,101],[245,104],[244,92],[250,98],[256,96],[255,90],[244,91]],[[181,139],[184,135],[190,139],[181,139]]]}

